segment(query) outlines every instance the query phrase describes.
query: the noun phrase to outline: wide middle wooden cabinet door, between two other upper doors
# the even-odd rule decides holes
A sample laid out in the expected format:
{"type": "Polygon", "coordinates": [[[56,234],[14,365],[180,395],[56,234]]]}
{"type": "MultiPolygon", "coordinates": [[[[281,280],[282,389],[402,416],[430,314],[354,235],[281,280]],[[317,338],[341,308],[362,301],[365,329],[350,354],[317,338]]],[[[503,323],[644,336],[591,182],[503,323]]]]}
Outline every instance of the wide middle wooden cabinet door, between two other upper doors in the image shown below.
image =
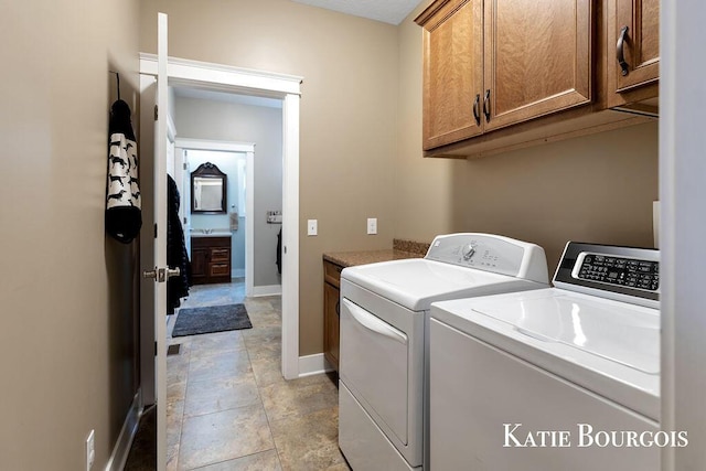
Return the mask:
{"type": "Polygon", "coordinates": [[[591,101],[590,0],[485,0],[485,130],[591,101]]]}

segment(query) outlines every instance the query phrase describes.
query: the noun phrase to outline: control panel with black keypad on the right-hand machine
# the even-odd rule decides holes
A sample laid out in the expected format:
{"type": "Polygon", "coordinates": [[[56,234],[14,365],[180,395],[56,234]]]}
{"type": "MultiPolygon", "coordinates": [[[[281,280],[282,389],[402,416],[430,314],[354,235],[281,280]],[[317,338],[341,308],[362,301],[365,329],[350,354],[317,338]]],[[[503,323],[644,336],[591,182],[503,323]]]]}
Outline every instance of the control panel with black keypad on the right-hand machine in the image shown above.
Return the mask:
{"type": "Polygon", "coordinates": [[[571,291],[659,307],[660,251],[569,242],[553,282],[571,291]]]}

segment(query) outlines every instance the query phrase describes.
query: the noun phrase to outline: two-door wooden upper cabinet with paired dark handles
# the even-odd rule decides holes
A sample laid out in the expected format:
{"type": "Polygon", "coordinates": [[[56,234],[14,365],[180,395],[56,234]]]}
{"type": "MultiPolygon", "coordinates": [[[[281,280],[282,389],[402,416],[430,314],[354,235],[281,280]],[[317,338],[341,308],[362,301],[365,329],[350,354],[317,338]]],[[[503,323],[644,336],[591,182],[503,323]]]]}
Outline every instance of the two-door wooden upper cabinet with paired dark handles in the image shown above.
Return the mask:
{"type": "Polygon", "coordinates": [[[424,149],[590,103],[590,0],[438,0],[424,28],[424,149]]]}

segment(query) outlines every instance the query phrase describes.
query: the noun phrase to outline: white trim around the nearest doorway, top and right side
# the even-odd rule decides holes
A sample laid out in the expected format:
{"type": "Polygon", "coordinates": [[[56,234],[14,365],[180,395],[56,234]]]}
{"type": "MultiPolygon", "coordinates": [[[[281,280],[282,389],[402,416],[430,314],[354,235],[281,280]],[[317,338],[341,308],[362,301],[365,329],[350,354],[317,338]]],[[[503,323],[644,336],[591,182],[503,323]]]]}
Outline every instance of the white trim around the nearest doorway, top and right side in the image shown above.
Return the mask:
{"type": "MultiPolygon", "coordinates": [[[[140,73],[157,75],[157,56],[140,53],[140,73]]],[[[282,375],[299,377],[299,100],[302,78],[169,57],[169,85],[282,99],[282,375]]]]}

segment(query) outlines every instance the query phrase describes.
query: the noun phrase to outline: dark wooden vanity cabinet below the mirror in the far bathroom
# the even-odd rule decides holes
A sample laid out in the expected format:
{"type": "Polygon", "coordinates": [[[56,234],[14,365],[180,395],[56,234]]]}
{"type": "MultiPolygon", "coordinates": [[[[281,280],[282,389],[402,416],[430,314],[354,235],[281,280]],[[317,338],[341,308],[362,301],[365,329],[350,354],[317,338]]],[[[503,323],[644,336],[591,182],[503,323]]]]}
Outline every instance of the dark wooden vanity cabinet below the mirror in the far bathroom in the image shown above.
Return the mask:
{"type": "Polygon", "coordinates": [[[194,285],[231,282],[231,237],[192,237],[191,276],[194,285]]]}

